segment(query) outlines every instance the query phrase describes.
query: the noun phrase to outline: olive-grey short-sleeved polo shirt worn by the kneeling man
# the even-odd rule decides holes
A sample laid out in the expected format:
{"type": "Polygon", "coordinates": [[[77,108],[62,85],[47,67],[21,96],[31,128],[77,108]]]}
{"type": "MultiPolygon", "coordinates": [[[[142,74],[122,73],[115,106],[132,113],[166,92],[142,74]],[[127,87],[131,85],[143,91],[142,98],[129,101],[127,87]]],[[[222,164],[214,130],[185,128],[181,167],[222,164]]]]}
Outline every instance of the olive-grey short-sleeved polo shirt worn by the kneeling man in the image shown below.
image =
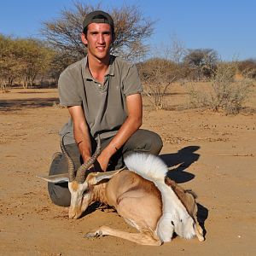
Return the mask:
{"type": "MultiPolygon", "coordinates": [[[[62,106],[82,106],[91,137],[112,137],[127,118],[126,96],[141,93],[143,87],[137,67],[110,56],[104,84],[94,79],[87,67],[87,56],[67,67],[59,78],[58,90],[62,106]]],[[[65,143],[75,143],[73,120],[69,119],[60,135],[70,132],[65,143]]]]}

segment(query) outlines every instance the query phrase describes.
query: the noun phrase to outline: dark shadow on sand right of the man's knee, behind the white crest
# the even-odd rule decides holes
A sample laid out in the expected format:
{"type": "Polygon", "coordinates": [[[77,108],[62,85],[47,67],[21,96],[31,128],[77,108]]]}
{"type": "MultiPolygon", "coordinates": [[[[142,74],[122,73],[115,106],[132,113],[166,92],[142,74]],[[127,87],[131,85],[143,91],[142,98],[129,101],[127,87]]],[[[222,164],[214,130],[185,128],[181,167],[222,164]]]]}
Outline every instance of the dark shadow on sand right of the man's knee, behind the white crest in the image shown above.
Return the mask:
{"type": "Polygon", "coordinates": [[[199,146],[189,146],[182,148],[174,154],[161,154],[160,159],[163,160],[170,168],[177,166],[167,173],[167,177],[170,177],[176,183],[186,183],[195,177],[194,174],[185,172],[191,164],[199,159],[200,154],[196,154],[199,146]]]}

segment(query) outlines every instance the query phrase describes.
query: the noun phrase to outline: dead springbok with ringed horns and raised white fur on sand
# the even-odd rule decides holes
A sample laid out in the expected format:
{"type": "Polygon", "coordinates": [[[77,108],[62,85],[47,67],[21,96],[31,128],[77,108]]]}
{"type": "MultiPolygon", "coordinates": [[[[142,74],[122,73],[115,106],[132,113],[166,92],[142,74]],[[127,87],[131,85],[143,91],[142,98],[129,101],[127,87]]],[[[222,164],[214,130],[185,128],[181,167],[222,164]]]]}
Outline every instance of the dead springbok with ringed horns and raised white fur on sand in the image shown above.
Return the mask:
{"type": "Polygon", "coordinates": [[[85,237],[116,236],[142,245],[160,246],[172,241],[173,233],[203,241],[203,230],[196,219],[195,195],[166,177],[167,166],[160,158],[143,153],[125,158],[128,169],[113,172],[90,172],[96,153],[75,172],[73,161],[63,143],[61,149],[68,161],[68,174],[42,177],[48,182],[68,181],[71,193],[69,218],[79,218],[94,201],[115,207],[119,215],[139,232],[130,233],[102,226],[85,237]],[[87,172],[86,172],[87,171],[87,172]]]}

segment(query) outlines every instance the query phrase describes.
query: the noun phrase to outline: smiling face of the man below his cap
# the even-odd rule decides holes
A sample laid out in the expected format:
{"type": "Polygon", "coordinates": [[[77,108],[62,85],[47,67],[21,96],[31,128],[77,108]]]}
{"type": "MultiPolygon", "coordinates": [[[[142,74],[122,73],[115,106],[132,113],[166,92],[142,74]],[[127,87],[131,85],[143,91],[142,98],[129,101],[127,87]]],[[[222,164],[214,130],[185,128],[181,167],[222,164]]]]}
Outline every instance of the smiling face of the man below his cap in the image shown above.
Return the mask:
{"type": "Polygon", "coordinates": [[[82,35],[82,40],[87,44],[88,55],[104,61],[109,56],[112,43],[111,26],[106,23],[90,23],[86,36],[82,35]]]}

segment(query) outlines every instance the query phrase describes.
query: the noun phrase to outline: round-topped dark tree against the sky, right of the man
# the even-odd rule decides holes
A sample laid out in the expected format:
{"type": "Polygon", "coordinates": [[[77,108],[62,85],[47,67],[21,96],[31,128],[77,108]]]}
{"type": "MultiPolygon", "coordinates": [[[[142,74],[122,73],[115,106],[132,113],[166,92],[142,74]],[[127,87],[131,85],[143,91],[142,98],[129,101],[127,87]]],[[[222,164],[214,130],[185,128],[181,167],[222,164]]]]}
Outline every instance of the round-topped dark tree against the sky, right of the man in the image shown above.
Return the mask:
{"type": "Polygon", "coordinates": [[[218,53],[214,49],[189,49],[183,64],[190,69],[191,79],[210,79],[216,68],[218,53]]]}

